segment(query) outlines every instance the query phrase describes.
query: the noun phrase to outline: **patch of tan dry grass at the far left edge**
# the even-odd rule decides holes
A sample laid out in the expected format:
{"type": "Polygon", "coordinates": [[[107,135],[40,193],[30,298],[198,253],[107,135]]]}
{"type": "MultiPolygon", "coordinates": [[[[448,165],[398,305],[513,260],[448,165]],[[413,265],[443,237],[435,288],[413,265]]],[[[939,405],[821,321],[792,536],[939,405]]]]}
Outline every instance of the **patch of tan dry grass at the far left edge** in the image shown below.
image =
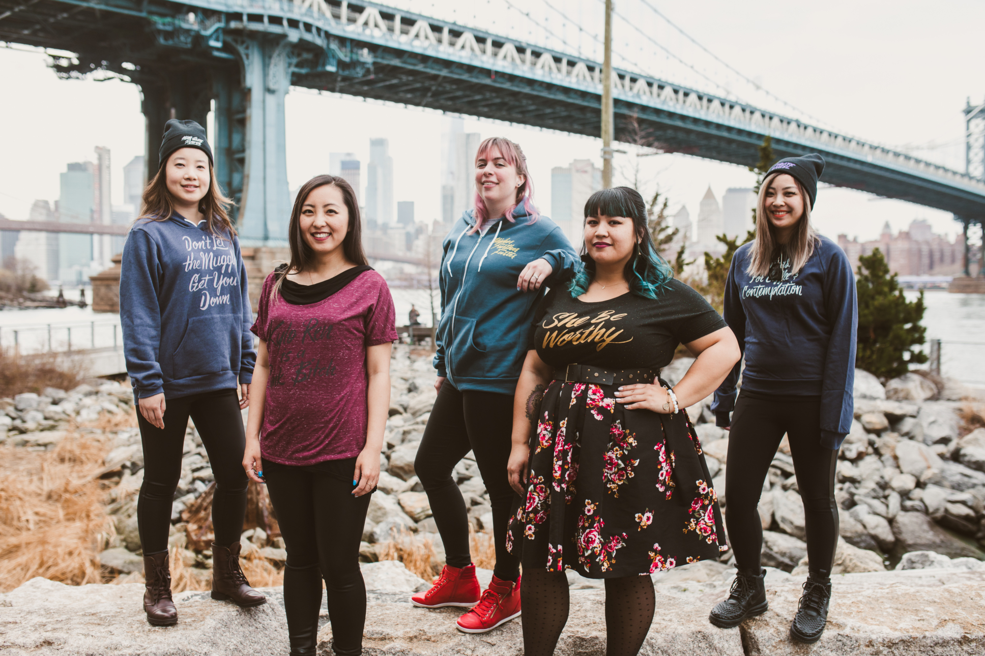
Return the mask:
{"type": "Polygon", "coordinates": [[[0,447],[0,592],[34,576],[102,580],[98,554],[114,529],[108,484],[96,476],[109,444],[103,435],[69,433],[51,451],[0,447]]]}

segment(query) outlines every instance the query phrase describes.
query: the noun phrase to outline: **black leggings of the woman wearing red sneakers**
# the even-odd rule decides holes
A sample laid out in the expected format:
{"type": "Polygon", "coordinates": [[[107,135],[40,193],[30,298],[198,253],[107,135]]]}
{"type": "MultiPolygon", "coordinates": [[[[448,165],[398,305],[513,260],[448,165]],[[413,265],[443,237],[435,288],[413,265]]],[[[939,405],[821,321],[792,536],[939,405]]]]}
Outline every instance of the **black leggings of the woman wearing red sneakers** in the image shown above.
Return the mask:
{"type": "Polygon", "coordinates": [[[515,581],[520,558],[506,551],[506,524],[520,497],[509,487],[506,464],[512,449],[513,397],[494,392],[460,392],[447,380],[427,420],[414,469],[427,492],[434,522],[444,544],[445,561],[465,567],[469,555],[469,519],[465,499],[452,472],[472,450],[493,506],[495,568],[503,580],[515,581]]]}

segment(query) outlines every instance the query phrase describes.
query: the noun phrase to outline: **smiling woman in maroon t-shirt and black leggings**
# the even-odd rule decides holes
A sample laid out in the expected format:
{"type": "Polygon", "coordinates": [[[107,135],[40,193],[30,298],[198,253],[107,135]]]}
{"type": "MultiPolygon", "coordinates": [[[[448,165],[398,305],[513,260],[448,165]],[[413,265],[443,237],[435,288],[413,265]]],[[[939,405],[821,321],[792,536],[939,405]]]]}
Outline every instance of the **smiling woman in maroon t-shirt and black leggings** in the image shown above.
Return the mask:
{"type": "Polygon", "coordinates": [[[267,483],[287,546],[291,653],[315,653],[324,577],[333,651],[358,656],[360,540],[390,406],[393,298],[366,265],[356,194],[343,178],[308,180],[288,231],[291,263],[267,277],[252,329],[243,468],[267,483]]]}

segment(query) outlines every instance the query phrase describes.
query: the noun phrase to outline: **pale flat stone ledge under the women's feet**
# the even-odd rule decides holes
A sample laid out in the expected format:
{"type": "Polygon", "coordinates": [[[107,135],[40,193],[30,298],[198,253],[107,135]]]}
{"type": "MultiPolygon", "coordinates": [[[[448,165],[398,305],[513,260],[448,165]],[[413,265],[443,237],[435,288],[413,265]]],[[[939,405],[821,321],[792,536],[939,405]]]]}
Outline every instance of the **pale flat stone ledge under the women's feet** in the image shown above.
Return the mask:
{"type": "MultiPolygon", "coordinates": [[[[801,578],[778,569],[766,577],[770,610],[739,628],[720,629],[708,611],[728,594],[734,570],[682,567],[656,577],[657,614],[644,656],[953,656],[985,653],[985,571],[911,569],[834,577],[824,635],[807,647],[792,642],[801,578]]],[[[238,609],[209,593],[175,595],[179,622],[154,627],[144,621],[142,585],[73,587],[35,578],[0,595],[0,654],[62,656],[185,656],[285,654],[287,628],[279,588],[270,602],[238,609]]],[[[408,593],[370,592],[365,656],[520,656],[521,624],[490,633],[454,627],[458,609],[415,608],[408,593]]],[[[559,656],[605,653],[605,593],[571,590],[571,614],[559,656]]],[[[331,628],[319,634],[319,654],[329,655],[331,628]]]]}

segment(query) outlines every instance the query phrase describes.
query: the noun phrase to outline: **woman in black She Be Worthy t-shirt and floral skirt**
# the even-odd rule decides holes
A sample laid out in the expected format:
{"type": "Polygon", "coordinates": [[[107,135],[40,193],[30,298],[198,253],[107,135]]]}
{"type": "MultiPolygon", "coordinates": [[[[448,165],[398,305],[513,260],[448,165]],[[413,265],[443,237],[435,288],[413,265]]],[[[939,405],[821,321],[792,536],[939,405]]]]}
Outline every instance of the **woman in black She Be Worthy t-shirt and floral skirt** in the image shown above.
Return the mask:
{"type": "Polygon", "coordinates": [[[514,400],[509,479],[526,500],[506,546],[522,550],[526,656],[554,653],[565,569],[606,580],[606,653],[628,655],[653,621],[649,574],[727,549],[684,408],[739,360],[735,336],[673,279],[635,190],[593,194],[584,238],[584,270],[537,313],[514,400]],[[672,390],[658,376],[681,343],[697,360],[672,390]]]}

